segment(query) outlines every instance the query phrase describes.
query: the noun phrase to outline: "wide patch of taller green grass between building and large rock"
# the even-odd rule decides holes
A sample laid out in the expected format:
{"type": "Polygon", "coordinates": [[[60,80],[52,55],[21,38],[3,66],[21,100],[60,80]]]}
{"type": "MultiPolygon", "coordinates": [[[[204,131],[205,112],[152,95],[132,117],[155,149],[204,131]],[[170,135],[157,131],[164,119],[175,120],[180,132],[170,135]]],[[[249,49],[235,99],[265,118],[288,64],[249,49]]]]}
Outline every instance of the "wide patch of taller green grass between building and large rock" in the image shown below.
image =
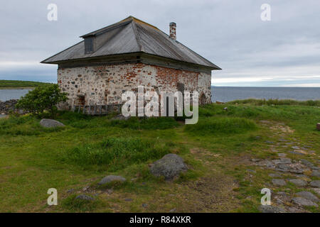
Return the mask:
{"type": "Polygon", "coordinates": [[[84,167],[106,167],[109,171],[121,170],[132,164],[158,159],[169,153],[169,148],[154,140],[141,138],[107,138],[100,143],[80,145],[67,150],[65,162],[84,167]]]}

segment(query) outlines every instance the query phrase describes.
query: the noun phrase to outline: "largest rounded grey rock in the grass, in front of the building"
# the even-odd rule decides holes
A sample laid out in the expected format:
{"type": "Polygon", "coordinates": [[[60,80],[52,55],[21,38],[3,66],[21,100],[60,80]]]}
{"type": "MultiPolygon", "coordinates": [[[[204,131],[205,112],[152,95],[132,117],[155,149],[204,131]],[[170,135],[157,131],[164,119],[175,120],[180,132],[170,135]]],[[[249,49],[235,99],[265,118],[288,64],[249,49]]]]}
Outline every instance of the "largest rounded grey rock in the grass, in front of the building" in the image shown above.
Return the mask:
{"type": "Polygon", "coordinates": [[[156,177],[164,176],[166,180],[174,179],[181,172],[188,170],[183,159],[176,154],[164,155],[160,160],[154,162],[150,167],[150,172],[156,177]]]}

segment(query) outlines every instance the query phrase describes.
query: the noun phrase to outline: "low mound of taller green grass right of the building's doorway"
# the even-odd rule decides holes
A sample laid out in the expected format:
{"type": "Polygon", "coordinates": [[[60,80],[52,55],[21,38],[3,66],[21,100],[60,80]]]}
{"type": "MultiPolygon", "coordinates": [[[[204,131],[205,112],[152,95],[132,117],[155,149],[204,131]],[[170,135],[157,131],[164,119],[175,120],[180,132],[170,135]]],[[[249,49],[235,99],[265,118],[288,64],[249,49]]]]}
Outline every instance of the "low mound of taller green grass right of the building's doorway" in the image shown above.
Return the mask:
{"type": "Polygon", "coordinates": [[[218,135],[243,133],[257,128],[254,121],[238,117],[200,118],[194,125],[186,125],[185,130],[196,135],[218,135]]]}

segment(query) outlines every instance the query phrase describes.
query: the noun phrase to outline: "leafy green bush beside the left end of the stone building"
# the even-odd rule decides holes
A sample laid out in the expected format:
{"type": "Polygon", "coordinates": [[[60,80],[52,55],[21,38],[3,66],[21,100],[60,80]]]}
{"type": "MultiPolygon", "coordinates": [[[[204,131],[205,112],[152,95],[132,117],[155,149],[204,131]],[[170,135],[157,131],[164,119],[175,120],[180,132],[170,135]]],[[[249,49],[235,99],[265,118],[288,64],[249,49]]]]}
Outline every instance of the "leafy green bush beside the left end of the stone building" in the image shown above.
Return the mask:
{"type": "Polygon", "coordinates": [[[67,99],[67,93],[61,92],[58,84],[50,84],[29,91],[18,100],[16,108],[37,116],[42,116],[47,111],[54,118],[58,111],[57,104],[67,99]]]}

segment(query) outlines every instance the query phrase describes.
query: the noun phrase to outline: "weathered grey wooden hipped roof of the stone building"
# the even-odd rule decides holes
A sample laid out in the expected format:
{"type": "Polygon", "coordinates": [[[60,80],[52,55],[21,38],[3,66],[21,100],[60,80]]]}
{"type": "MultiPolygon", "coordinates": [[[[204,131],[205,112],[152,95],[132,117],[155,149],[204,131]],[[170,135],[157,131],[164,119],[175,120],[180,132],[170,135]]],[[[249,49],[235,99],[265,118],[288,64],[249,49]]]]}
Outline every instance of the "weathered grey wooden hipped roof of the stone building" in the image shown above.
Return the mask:
{"type": "Polygon", "coordinates": [[[156,55],[220,70],[220,67],[201,57],[185,45],[173,40],[158,28],[129,16],[123,21],[101,28],[82,38],[95,38],[93,52],[85,54],[85,42],[82,41],[72,47],[59,52],[42,63],[60,64],[69,60],[82,60],[90,57],[105,57],[109,55],[123,55],[134,52],[156,55]]]}

